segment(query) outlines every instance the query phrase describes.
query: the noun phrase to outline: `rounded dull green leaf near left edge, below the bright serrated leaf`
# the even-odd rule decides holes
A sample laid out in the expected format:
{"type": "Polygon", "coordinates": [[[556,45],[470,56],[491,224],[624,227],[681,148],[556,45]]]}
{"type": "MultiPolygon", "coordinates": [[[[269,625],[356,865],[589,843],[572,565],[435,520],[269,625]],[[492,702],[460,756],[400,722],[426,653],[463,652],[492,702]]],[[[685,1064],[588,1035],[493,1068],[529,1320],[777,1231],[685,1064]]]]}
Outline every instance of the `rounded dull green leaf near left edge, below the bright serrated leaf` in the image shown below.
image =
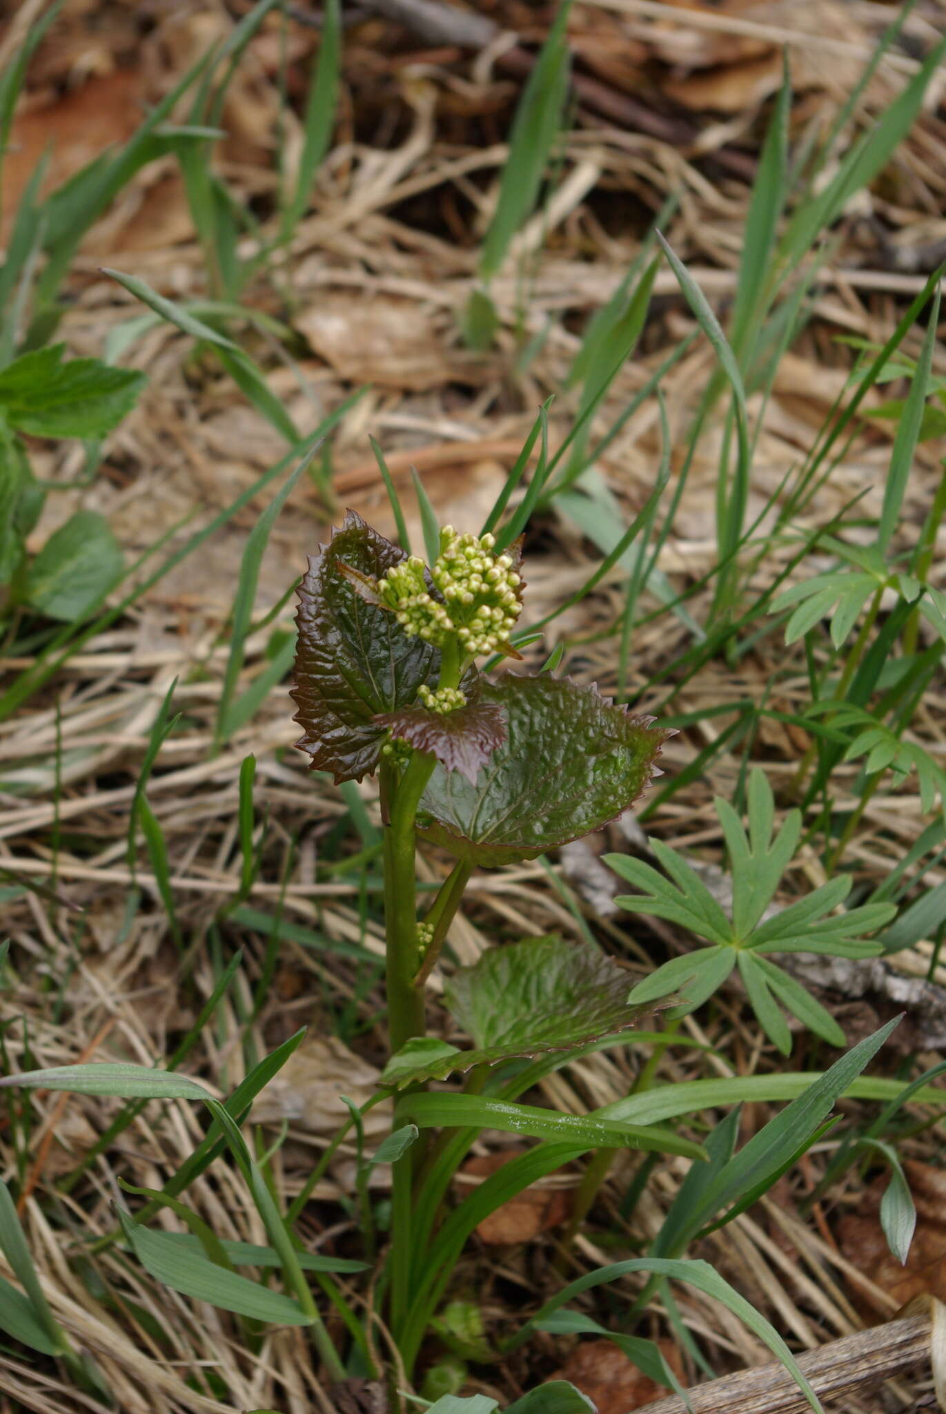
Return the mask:
{"type": "Polygon", "coordinates": [[[96,510],[76,510],[30,564],[21,597],[38,614],[75,624],[98,608],[123,570],[107,520],[96,510]]]}

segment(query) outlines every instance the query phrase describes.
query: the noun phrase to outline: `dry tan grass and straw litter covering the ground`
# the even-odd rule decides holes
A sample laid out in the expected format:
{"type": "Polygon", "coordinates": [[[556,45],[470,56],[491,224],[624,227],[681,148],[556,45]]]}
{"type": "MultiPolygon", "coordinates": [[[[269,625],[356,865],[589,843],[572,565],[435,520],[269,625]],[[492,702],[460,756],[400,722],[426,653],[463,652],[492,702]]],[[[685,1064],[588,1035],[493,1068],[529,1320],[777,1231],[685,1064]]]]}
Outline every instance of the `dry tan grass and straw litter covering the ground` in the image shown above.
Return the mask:
{"type": "MultiPolygon", "coordinates": [[[[18,20],[35,8],[21,7],[7,42],[13,41],[18,20]]],[[[102,115],[105,129],[109,123],[120,129],[126,120],[126,89],[133,95],[132,106],[141,96],[153,98],[198,47],[230,23],[222,4],[202,3],[184,10],[156,4],[150,10],[150,31],[141,40],[136,8],[117,0],[103,0],[99,7],[66,4],[58,33],[54,28],[38,57],[27,112],[35,126],[42,119],[55,130],[59,105],[81,103],[82,95],[99,85],[99,98],[89,102],[102,115]],[[96,25],[96,13],[106,23],[96,25]],[[88,75],[92,78],[86,82],[88,75]],[[65,100],[64,85],[74,89],[65,100]]],[[[542,31],[544,16],[516,0],[488,8],[501,24],[516,27],[526,37],[542,31]]],[[[566,144],[567,180],[560,198],[520,239],[520,255],[533,257],[526,281],[510,276],[496,283],[494,293],[502,315],[499,349],[478,361],[471,361],[458,345],[457,315],[471,288],[477,235],[506,156],[503,136],[518,83],[496,66],[501,44],[471,64],[460,51],[443,47],[424,51],[416,38],[378,18],[354,28],[345,59],[341,132],[320,178],[313,211],[300,222],[273,279],[260,280],[247,294],[247,304],[284,320],[296,331],[293,362],[276,342],[256,334],[247,337],[270,369],[270,386],[303,426],[314,424],[362,382],[370,382],[372,387],[345,416],[335,437],[332,489],[313,481],[300,484],[280,518],[263,564],[257,614],[266,612],[284,592],[287,580],[301,570],[305,554],[325,534],[339,505],[352,505],[380,529],[389,527],[368,452],[369,434],[383,444],[404,489],[409,465],[421,468],[441,519],[458,525],[481,519],[515,460],[536,406],[550,393],[557,395],[553,436],[560,437],[568,426],[573,407],[568,395],[561,395],[561,385],[583,321],[614,290],[646,222],[669,192],[679,197],[667,230],[672,245],[710,298],[725,303],[734,290],[745,221],[747,173],[764,130],[759,102],[732,112],[687,110],[683,98],[670,100],[663,86],[687,75],[707,74],[717,76],[718,83],[728,74],[732,83],[730,71],[748,64],[749,51],[758,62],[759,55],[771,57],[772,47],[782,42],[805,64],[806,55],[810,61],[813,51],[826,49],[819,25],[829,11],[831,23],[840,27],[827,44],[837,66],[819,76],[809,62],[793,113],[793,134],[799,139],[830,122],[850,86],[850,64],[861,64],[889,20],[891,7],[732,4],[718,13],[682,13],[648,0],[578,6],[573,28],[588,76],[618,103],[635,93],[635,75],[643,75],[648,103],[667,132],[655,136],[635,130],[631,123],[619,126],[601,115],[601,103],[597,107],[588,99],[580,103],[576,129],[566,144]],[[540,354],[526,372],[518,370],[519,322],[532,335],[549,317],[554,322],[540,354]]],[[[918,6],[906,33],[923,40],[945,17],[939,0],[926,0],[918,6]]],[[[290,27],[293,75],[303,72],[311,42],[308,28],[290,27]]],[[[226,115],[233,136],[225,146],[222,170],[242,195],[263,208],[274,181],[270,124],[279,110],[277,52],[273,25],[250,47],[243,66],[246,76],[236,85],[226,115]]],[[[899,54],[880,69],[858,122],[881,120],[911,62],[908,54],[899,54]]],[[[935,89],[939,103],[942,76],[935,89]]],[[[76,122],[74,113],[69,126],[76,122]]],[[[939,160],[943,136],[943,119],[932,106],[877,192],[858,199],[841,223],[837,247],[819,283],[813,322],[785,359],[775,396],[765,409],[754,468],[759,506],[761,498],[778,485],[809,444],[844,380],[850,359],[836,335],[884,338],[902,311],[904,298],[923,284],[921,267],[933,263],[929,252],[938,242],[942,245],[946,233],[942,219],[946,178],[939,160]],[[881,239],[881,228],[892,230],[892,238],[881,239]]],[[[291,146],[296,139],[290,124],[286,141],[291,146]]],[[[123,291],[99,274],[103,263],[133,271],[178,300],[206,293],[204,255],[189,232],[180,181],[170,161],[148,168],[132,184],[76,262],[69,283],[74,303],[62,324],[74,354],[100,355],[109,329],[137,312],[123,291]]],[[[642,354],[615,382],[611,410],[643,383],[690,327],[669,271],[658,277],[656,293],[642,354]]],[[[908,341],[908,349],[915,352],[916,344],[908,341]]],[[[667,379],[672,428],[684,426],[693,390],[703,386],[710,358],[699,344],[667,379]]],[[[246,407],[216,365],[195,361],[189,341],[175,331],[158,328],[146,335],[132,361],[148,373],[140,407],[112,438],[95,484],[49,498],[37,543],[76,505],[83,505],[110,518],[133,556],[181,515],[206,516],[221,509],[283,454],[276,434],[246,407]]],[[[946,373],[942,348],[936,370],[946,373]]],[[[607,413],[608,409],[602,419],[607,413]]],[[[648,403],[628,421],[601,465],[631,512],[652,486],[658,443],[656,407],[648,403]]],[[[906,508],[908,526],[919,523],[929,501],[939,451],[930,444],[921,448],[913,501],[906,508]]],[[[711,438],[704,452],[662,554],[662,568],[680,587],[706,573],[716,553],[711,438]]],[[[888,452],[882,428],[864,431],[837,477],[809,508],[809,523],[827,520],[853,492],[864,488],[865,512],[877,512],[888,452]]],[[[79,448],[74,445],[37,445],[34,457],[38,472],[51,481],[71,481],[81,469],[79,448]]],[[[259,1018],[247,1022],[263,943],[219,912],[239,882],[238,775],[242,759],[252,752],[257,759],[257,813],[260,819],[263,812],[269,817],[269,843],[250,902],[274,912],[281,901],[288,923],[331,940],[361,945],[370,953],[382,952],[378,922],[362,916],[358,878],[320,877],[324,841],[346,806],[331,788],[308,779],[304,759],[290,749],[293,728],[286,687],[270,696],[223,751],[215,755],[211,749],[226,659],[222,633],[239,554],[259,509],[247,508],[199,556],[184,561],[144,595],[120,625],[76,653],[25,710],[0,725],[0,761],[8,782],[0,797],[0,868],[45,885],[57,899],[51,902],[47,892],[25,892],[6,904],[16,971],[10,973],[10,988],[3,997],[3,1018],[8,1063],[14,1069],[106,1056],[151,1063],[167,1055],[171,1038],[185,1029],[211,993],[221,959],[229,957],[238,943],[246,946],[239,987],[202,1034],[188,1070],[230,1089],[242,1077],[247,1055],[271,1049],[301,1024],[308,1024],[317,1036],[327,1035],[332,1018],[341,1012],[346,1012],[349,1036],[363,1031],[356,1044],[359,1053],[368,1062],[380,1059],[380,1034],[373,1019],[378,995],[363,995],[358,988],[355,964],[291,939],[281,945],[270,1000],[259,1018]],[[126,860],[134,782],[148,732],[174,679],[178,680],[175,710],[182,720],[161,751],[148,796],[167,839],[178,923],[188,940],[184,981],[154,875],[143,855],[134,877],[126,860]],[[133,887],[139,904],[126,911],[133,887]]],[[[766,560],[759,588],[773,573],[779,553],[766,560]]],[[[546,518],[532,544],[530,612],[536,617],[547,612],[584,581],[594,564],[594,547],[574,526],[561,518],[546,518]]],[[[570,670],[602,686],[615,679],[614,639],[604,635],[617,619],[621,595],[622,581],[614,574],[578,609],[553,625],[553,636],[561,635],[570,643],[570,670]]],[[[288,611],[283,618],[288,618],[288,611]]],[[[635,690],[672,662],[683,646],[683,635],[679,625],[667,628],[666,621],[641,632],[631,674],[635,690]]],[[[267,639],[269,629],[250,638],[243,683],[264,666],[267,639]]],[[[758,697],[771,670],[762,653],[772,649],[773,641],[768,641],[759,656],[745,660],[735,673],[723,663],[711,665],[680,691],[675,708],[697,711],[724,700],[758,697]]],[[[0,660],[4,674],[23,666],[21,660],[0,660]]],[[[798,701],[803,700],[806,684],[789,682],[783,693],[785,706],[790,706],[795,693],[798,701]]],[[[707,718],[675,738],[666,752],[667,769],[679,772],[691,761],[720,730],[718,723],[720,718],[707,718]]],[[[942,699],[930,697],[916,730],[930,749],[943,752],[945,728],[942,699]]],[[[778,785],[793,771],[800,749],[798,740],[772,724],[768,735],[755,742],[754,758],[765,762],[778,785]]],[[[704,860],[718,860],[721,843],[710,800],[713,790],[731,793],[737,769],[738,761],[720,758],[708,779],[701,778],[673,797],[648,829],[704,860]]],[[[373,813],[370,785],[363,796],[373,813]]],[[[881,878],[919,829],[919,800],[906,783],[899,792],[874,797],[850,857],[864,878],[881,878]]],[[[813,851],[802,867],[810,885],[823,882],[813,851]]],[[[437,870],[433,863],[431,877],[437,870]]],[[[940,882],[946,874],[933,870],[928,878],[940,882]]],[[[581,872],[578,885],[584,887],[581,872]]],[[[539,865],[481,875],[468,898],[465,915],[451,935],[461,960],[475,957],[495,936],[578,930],[539,865]]],[[[602,936],[632,950],[633,966],[641,969],[648,962],[646,949],[662,936],[659,925],[638,940],[614,922],[601,926],[602,936]]],[[[925,976],[929,945],[899,954],[894,966],[925,976]]],[[[946,966],[938,967],[936,980],[946,984],[946,966]]],[[[431,990],[438,986],[441,981],[434,976],[431,990]]],[[[848,1029],[856,1034],[870,1018],[851,1014],[850,1022],[848,1029]]],[[[666,1059],[669,1080],[752,1073],[775,1065],[771,1048],[762,1045],[754,1022],[747,1021],[737,994],[724,997],[708,1032],[693,1018],[687,1029],[711,1049],[666,1059]]],[[[585,1059],[567,1075],[546,1080],[544,1099],[570,1113],[615,1100],[626,1093],[629,1063],[624,1052],[585,1059]]],[[[20,1141],[10,1123],[3,1126],[0,1143],[4,1172],[16,1171],[20,1164],[30,1175],[24,1220],[52,1309],[76,1343],[95,1355],[119,1407],[129,1414],[259,1407],[304,1414],[328,1408],[313,1353],[298,1332],[269,1333],[259,1350],[250,1350],[229,1316],[208,1307],[195,1308],[158,1288],[115,1249],[106,1247],[85,1268],[69,1261],[89,1237],[113,1230],[112,1203],[119,1196],[119,1176],[158,1188],[199,1137],[198,1117],[184,1106],[148,1106],[68,1196],[58,1193],[57,1178],[82,1158],[113,1109],[107,1102],[72,1097],[64,1104],[57,1097],[38,1096],[38,1124],[28,1135],[27,1152],[16,1152],[20,1141]],[[105,1302],[93,1294],[102,1284],[110,1292],[105,1302]],[[214,1391],[222,1387],[228,1394],[221,1401],[214,1391]]],[[[747,1111],[745,1130],[757,1128],[764,1117],[758,1107],[747,1111]]],[[[287,1195],[298,1191],[328,1133],[324,1114],[303,1107],[290,1117],[287,1143],[276,1158],[276,1174],[287,1195]]],[[[621,1227],[617,1200],[633,1162],[628,1158],[615,1168],[601,1199],[601,1222],[592,1222],[578,1239],[574,1258],[563,1258],[564,1270],[571,1260],[580,1264],[607,1260],[598,1237],[607,1239],[608,1216],[614,1230],[621,1227]]],[[[635,1212],[632,1241],[641,1243],[658,1230],[684,1168],[679,1159],[659,1165],[635,1212]]],[[[850,1192],[836,1195],[827,1213],[816,1210],[812,1222],[795,1216],[796,1200],[813,1185],[817,1172],[816,1150],[807,1167],[793,1176],[785,1202],[764,1200],[710,1239],[706,1250],[724,1275],[800,1349],[857,1329],[865,1308],[878,1316],[892,1311],[891,1298],[846,1261],[831,1234],[833,1212],[858,1202],[857,1184],[850,1192]]],[[[189,1189],[189,1200],[218,1234],[259,1241],[255,1215],[229,1184],[228,1171],[218,1165],[189,1189]]],[[[344,1164],[305,1212],[303,1230],[313,1246],[345,1246],[348,1223],[334,1202],[338,1184],[345,1184],[344,1164]]],[[[475,1284],[484,1292],[486,1314],[508,1319],[510,1299],[530,1304],[536,1290],[559,1280],[550,1268],[553,1258],[554,1244],[522,1249],[498,1260],[472,1249],[461,1268],[460,1287],[475,1284]]],[[[618,1299],[625,1295],[621,1287],[615,1292],[618,1299]]],[[[356,1294],[352,1299],[358,1299],[356,1294]]],[[[720,1372],[761,1360],[758,1342],[717,1305],[693,1294],[682,1299],[680,1309],[720,1372]]],[[[376,1339],[383,1343],[383,1333],[376,1333],[376,1339]]],[[[544,1346],[540,1342],[530,1348],[527,1362],[503,1374],[503,1394],[516,1384],[527,1386],[536,1373],[554,1366],[560,1342],[557,1356],[549,1338],[543,1339],[544,1346]]],[[[0,1362],[4,1411],[72,1414],[95,1407],[48,1369],[8,1355],[0,1355],[0,1362]]],[[[902,1408],[913,1397],[915,1391],[892,1390],[889,1397],[884,1396],[882,1407],[902,1408]]]]}

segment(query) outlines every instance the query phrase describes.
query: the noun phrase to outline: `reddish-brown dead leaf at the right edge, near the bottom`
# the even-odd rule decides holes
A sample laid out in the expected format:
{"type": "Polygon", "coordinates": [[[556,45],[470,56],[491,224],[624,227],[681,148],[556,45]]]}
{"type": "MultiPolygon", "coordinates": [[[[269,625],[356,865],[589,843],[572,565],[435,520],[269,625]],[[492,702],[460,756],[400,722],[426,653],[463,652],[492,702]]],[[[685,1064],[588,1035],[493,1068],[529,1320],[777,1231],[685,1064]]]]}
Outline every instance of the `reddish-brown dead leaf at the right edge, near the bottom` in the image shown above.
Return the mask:
{"type": "MultiPolygon", "coordinates": [[[[904,1172],[916,1205],[916,1232],[906,1264],[901,1266],[894,1257],[881,1230],[880,1202],[889,1182],[887,1175],[868,1188],[858,1213],[841,1217],[837,1241],[843,1256],[898,1307],[919,1295],[946,1301],[946,1169],[905,1159],[904,1172]]],[[[885,1307],[871,1301],[870,1291],[857,1295],[881,1315],[889,1315],[885,1307]]]]}

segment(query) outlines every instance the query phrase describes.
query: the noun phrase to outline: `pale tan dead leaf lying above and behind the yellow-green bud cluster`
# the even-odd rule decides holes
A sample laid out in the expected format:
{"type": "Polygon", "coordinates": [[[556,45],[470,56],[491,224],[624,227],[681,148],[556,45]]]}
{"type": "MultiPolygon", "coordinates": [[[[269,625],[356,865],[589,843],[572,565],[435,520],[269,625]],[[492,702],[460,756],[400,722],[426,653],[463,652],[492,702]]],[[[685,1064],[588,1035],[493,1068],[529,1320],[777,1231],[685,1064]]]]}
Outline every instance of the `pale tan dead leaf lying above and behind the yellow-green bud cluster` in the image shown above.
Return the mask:
{"type": "Polygon", "coordinates": [[[349,383],[376,383],[421,392],[444,383],[478,385],[486,363],[451,348],[434,314],[416,300],[395,296],[356,298],[325,291],[303,310],[296,327],[311,348],[349,383]]]}

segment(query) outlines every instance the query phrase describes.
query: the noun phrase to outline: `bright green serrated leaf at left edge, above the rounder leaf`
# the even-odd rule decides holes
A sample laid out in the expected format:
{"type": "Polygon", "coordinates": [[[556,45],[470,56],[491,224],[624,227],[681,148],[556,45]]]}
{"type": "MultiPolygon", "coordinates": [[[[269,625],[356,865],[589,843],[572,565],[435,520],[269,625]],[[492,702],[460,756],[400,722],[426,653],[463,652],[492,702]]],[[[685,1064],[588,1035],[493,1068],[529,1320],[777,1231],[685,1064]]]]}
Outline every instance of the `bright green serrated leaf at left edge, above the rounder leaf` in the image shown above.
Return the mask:
{"type": "Polygon", "coordinates": [[[7,423],[33,437],[103,437],[134,407],[144,373],[64,352],[34,349],[0,370],[7,423]]]}

